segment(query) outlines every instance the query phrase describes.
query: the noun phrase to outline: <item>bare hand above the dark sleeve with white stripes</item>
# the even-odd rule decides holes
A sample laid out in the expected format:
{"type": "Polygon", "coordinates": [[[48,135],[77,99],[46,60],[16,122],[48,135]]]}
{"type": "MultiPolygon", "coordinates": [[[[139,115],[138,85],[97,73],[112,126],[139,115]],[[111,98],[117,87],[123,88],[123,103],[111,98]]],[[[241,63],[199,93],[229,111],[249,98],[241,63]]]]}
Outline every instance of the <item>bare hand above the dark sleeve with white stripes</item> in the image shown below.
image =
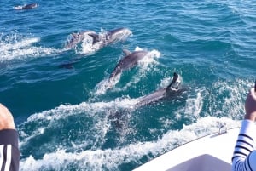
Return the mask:
{"type": "Polygon", "coordinates": [[[3,129],[15,129],[15,122],[10,111],[0,103],[0,130],[3,129]]]}

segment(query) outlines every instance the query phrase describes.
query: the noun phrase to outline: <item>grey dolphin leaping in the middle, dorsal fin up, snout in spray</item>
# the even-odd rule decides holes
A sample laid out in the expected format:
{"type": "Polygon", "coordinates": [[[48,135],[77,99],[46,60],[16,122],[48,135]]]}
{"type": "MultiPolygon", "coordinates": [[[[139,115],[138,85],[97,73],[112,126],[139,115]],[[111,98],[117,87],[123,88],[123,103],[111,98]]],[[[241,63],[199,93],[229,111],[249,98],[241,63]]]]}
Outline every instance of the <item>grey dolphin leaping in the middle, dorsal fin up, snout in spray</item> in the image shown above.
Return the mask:
{"type": "Polygon", "coordinates": [[[117,66],[115,66],[113,72],[111,73],[109,80],[118,76],[122,71],[131,69],[132,67],[136,66],[139,60],[142,60],[147,54],[148,51],[134,51],[130,52],[128,50],[123,50],[126,54],[124,58],[119,60],[117,66]]]}

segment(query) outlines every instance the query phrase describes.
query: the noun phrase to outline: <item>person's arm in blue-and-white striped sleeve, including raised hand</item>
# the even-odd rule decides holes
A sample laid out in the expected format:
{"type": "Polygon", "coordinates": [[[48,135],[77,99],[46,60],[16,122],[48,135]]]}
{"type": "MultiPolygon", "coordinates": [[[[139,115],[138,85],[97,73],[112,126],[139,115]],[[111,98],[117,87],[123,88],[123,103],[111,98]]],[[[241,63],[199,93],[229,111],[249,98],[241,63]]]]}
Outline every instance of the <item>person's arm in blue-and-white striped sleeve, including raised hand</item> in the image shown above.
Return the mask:
{"type": "Polygon", "coordinates": [[[246,115],[241,123],[241,130],[236,140],[232,157],[232,171],[256,171],[256,94],[251,88],[245,104],[246,115]]]}

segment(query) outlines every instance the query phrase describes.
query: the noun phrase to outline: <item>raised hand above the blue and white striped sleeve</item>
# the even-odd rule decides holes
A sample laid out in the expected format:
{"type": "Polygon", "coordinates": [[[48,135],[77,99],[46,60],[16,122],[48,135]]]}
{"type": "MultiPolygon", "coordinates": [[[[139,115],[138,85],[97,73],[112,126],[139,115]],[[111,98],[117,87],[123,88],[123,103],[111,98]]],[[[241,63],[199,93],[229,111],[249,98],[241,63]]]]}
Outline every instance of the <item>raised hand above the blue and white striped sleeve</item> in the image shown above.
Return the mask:
{"type": "Polygon", "coordinates": [[[246,115],[245,119],[249,119],[251,121],[256,120],[256,92],[254,88],[251,88],[249,94],[247,95],[247,100],[245,103],[246,115]]]}

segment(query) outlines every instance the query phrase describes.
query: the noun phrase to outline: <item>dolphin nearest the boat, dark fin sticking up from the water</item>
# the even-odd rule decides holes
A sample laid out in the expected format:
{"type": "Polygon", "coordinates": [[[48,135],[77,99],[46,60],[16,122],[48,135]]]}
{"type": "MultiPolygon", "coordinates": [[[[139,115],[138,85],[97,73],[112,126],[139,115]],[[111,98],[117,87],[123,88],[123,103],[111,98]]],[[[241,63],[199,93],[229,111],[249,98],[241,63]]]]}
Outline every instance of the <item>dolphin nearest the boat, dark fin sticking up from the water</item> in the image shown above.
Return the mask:
{"type": "Polygon", "coordinates": [[[180,76],[176,72],[174,72],[172,77],[172,83],[170,83],[166,88],[160,88],[152,94],[148,94],[139,98],[135,106],[138,107],[138,106],[148,105],[155,101],[164,99],[168,96],[177,94],[180,90],[179,88],[181,83],[181,79],[179,79],[179,77],[180,76]]]}

